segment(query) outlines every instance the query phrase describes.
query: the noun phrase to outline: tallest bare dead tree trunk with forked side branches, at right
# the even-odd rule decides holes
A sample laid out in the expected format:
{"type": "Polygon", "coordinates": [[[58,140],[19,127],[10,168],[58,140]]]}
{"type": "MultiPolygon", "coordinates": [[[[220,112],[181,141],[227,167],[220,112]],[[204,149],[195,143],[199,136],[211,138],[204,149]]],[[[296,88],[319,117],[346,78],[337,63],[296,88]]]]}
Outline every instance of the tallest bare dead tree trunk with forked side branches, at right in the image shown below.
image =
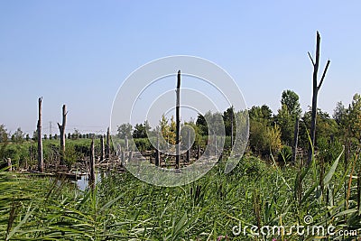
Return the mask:
{"type": "Polygon", "coordinates": [[[325,70],[323,70],[323,74],[322,77],[319,81],[319,85],[318,85],[318,71],[319,71],[319,45],[321,42],[321,38],[319,37],[319,32],[317,32],[317,36],[316,36],[316,59],[313,60],[312,57],[310,56],[310,52],[309,56],[310,56],[310,60],[312,62],[313,65],[313,76],[312,76],[312,80],[313,80],[313,88],[312,88],[312,114],[311,114],[311,121],[310,121],[310,147],[309,147],[309,156],[308,156],[308,160],[307,160],[307,164],[310,164],[310,162],[312,161],[312,150],[313,150],[313,146],[315,145],[315,139],[316,139],[316,117],[317,117],[317,97],[319,94],[319,88],[321,88],[322,83],[323,83],[323,79],[325,79],[326,76],[326,72],[329,69],[329,63],[330,60],[328,60],[325,70]]]}

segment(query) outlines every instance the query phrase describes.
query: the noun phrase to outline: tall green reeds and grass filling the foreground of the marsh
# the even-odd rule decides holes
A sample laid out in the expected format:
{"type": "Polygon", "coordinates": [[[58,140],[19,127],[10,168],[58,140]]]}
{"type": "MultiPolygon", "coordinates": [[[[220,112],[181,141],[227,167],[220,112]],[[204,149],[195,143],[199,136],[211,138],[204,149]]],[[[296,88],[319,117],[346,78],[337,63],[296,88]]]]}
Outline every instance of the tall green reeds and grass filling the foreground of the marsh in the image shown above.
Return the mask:
{"type": "Polygon", "coordinates": [[[199,181],[178,188],[149,185],[125,172],[107,173],[93,191],[77,190],[67,181],[2,171],[0,236],[5,240],[320,240],[321,230],[314,234],[311,230],[323,227],[323,240],[359,240],[357,160],[354,156],[347,165],[333,160],[321,175],[316,162],[308,168],[281,168],[246,156],[228,174],[223,173],[224,163],[218,163],[199,181]],[[285,231],[267,231],[279,226],[285,231]],[[300,226],[302,235],[295,229],[300,226]],[[332,227],[330,235],[328,227],[332,227]],[[338,236],[341,232],[343,236],[338,236]]]}

